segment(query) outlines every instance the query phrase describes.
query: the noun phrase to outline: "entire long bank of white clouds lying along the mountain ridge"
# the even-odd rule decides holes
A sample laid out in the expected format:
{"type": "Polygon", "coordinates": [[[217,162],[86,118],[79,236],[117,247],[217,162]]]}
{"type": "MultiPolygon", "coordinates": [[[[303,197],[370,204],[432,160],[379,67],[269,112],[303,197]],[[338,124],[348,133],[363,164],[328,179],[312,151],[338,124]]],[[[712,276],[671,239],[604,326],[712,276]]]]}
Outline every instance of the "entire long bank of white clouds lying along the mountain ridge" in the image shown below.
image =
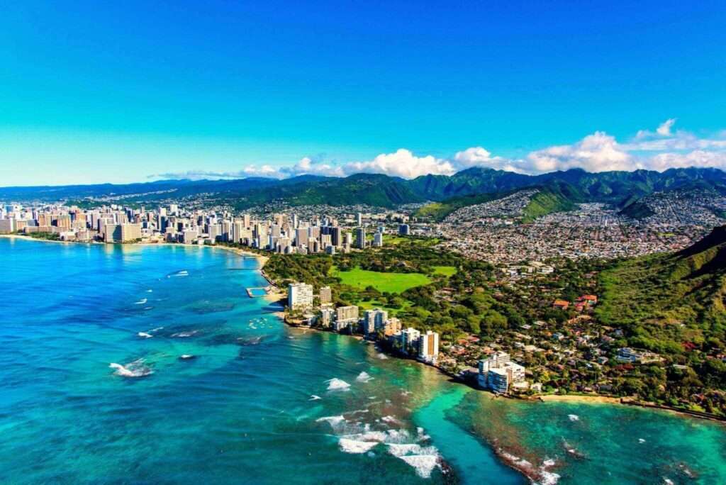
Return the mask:
{"type": "Polygon", "coordinates": [[[710,138],[683,130],[673,131],[676,118],[669,118],[655,131],[641,130],[620,143],[604,131],[585,136],[573,144],[534,150],[523,158],[492,155],[481,146],[466,148],[449,158],[415,155],[401,148],[381,153],[372,160],[327,162],[325,154],[303,157],[288,166],[246,166],[240,171],[187,171],[156,174],[152,178],[235,179],[248,176],[287,178],[303,174],[348,176],[356,173],[386,174],[414,179],[427,174],[452,175],[471,167],[487,167],[521,174],[583,168],[590,172],[632,171],[638,168],[664,171],[668,168],[715,167],[726,169],[726,130],[710,138]]]}

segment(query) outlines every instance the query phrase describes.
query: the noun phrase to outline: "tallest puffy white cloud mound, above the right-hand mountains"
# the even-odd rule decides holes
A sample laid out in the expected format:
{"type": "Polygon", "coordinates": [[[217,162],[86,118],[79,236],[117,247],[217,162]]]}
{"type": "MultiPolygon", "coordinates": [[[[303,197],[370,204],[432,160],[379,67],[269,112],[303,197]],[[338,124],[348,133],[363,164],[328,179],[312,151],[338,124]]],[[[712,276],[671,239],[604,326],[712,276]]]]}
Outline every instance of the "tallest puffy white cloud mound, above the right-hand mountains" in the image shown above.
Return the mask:
{"type": "Polygon", "coordinates": [[[530,172],[543,173],[570,168],[589,172],[634,170],[635,158],[604,131],[585,136],[580,142],[536,150],[527,155],[530,172]]]}

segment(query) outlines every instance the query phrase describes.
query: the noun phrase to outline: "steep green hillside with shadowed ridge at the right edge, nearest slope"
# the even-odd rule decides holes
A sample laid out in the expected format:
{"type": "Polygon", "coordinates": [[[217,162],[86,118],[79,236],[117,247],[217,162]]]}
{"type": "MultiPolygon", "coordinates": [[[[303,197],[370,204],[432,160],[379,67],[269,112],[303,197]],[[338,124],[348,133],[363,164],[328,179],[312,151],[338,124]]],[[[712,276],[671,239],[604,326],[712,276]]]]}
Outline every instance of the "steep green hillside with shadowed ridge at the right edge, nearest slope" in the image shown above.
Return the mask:
{"type": "Polygon", "coordinates": [[[726,341],[726,226],[674,254],[623,261],[600,275],[597,316],[630,346],[680,354],[726,341]]]}

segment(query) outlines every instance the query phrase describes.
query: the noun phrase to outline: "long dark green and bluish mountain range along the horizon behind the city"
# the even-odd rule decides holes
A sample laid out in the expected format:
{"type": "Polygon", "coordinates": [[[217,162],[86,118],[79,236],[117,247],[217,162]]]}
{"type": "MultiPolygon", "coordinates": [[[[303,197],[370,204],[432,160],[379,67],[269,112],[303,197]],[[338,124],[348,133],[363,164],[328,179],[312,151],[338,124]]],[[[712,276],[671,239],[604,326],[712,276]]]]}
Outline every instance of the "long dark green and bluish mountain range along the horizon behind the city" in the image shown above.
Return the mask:
{"type": "Polygon", "coordinates": [[[726,172],[717,168],[671,168],[658,171],[590,173],[576,168],[541,175],[492,168],[468,168],[452,176],[425,175],[406,180],[382,174],[347,177],[315,175],[290,179],[250,177],[234,180],[161,180],[138,184],[0,187],[3,200],[83,200],[121,197],[124,202],[203,197],[236,208],[279,201],[287,205],[354,205],[395,207],[406,203],[446,201],[459,206],[497,198],[526,187],[557,193],[571,202],[603,202],[627,207],[653,192],[715,190],[726,193],[726,172]]]}

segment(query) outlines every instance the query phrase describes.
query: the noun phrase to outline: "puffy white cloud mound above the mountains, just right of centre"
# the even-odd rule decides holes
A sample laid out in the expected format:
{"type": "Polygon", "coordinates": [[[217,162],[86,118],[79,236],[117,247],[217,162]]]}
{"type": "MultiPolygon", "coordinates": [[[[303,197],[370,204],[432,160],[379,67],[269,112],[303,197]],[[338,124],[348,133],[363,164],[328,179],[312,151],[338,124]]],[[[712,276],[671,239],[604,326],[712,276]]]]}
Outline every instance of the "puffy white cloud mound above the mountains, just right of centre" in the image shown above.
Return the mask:
{"type": "Polygon", "coordinates": [[[367,162],[351,162],[343,166],[346,175],[367,173],[399,176],[404,179],[415,179],[420,175],[452,175],[456,169],[449,160],[435,158],[432,155],[417,157],[411,150],[399,148],[393,153],[381,153],[367,162]]]}

